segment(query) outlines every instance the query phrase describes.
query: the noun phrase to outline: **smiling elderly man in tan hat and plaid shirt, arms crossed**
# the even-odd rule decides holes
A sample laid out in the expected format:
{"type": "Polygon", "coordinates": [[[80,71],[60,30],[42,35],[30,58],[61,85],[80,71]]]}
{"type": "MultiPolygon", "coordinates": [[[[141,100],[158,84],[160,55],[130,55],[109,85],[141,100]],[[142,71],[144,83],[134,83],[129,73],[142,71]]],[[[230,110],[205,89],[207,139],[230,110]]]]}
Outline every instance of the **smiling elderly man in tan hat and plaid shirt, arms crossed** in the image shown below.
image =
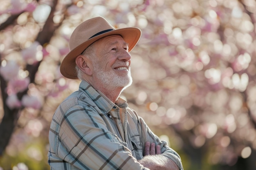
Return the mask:
{"type": "Polygon", "coordinates": [[[129,52],[140,36],[138,28],[115,29],[102,17],[72,33],[60,69],[81,84],[54,113],[52,170],[183,170],[177,152],[119,97],[132,83],[129,52]]]}

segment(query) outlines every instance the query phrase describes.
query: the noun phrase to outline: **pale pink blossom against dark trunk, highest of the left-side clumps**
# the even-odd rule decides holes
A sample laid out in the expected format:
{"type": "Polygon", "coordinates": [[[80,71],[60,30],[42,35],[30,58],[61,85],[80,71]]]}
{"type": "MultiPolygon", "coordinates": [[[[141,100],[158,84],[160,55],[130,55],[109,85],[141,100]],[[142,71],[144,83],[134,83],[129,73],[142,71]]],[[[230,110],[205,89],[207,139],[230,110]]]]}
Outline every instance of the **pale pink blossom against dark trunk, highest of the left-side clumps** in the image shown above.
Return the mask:
{"type": "Polygon", "coordinates": [[[31,44],[31,46],[29,46],[27,49],[22,50],[22,57],[23,59],[29,63],[29,64],[33,64],[34,62],[36,62],[36,55],[38,52],[37,47],[39,46],[39,42],[34,42],[33,44],[31,44]]]}

